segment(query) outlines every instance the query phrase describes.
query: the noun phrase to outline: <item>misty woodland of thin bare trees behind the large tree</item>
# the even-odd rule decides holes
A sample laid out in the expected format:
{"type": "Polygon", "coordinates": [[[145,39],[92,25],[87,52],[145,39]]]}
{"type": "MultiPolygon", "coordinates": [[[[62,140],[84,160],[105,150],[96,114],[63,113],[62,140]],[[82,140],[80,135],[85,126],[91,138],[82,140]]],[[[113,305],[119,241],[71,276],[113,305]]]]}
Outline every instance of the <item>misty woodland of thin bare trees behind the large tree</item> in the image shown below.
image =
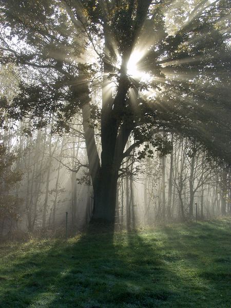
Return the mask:
{"type": "MultiPolygon", "coordinates": [[[[230,170],[188,139],[169,138],[169,155],[156,151],[138,160],[132,151],[125,161],[115,213],[121,227],[196,219],[195,203],[198,219],[230,215],[230,170]]],[[[51,235],[64,228],[66,211],[73,230],[89,223],[93,197],[80,132],[60,137],[46,128],[28,135],[19,123],[5,130],[2,140],[2,236],[21,237],[20,230],[51,235]]]]}

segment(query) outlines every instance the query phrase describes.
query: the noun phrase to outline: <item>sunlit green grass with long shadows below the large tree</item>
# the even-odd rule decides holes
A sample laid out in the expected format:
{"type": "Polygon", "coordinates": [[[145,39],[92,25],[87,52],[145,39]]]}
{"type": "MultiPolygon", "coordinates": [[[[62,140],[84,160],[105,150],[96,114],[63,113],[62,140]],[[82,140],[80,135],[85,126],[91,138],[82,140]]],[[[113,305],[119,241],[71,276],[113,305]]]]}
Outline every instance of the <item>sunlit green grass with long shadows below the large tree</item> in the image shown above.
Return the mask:
{"type": "Polygon", "coordinates": [[[2,244],[0,307],[231,307],[230,226],[2,244]]]}

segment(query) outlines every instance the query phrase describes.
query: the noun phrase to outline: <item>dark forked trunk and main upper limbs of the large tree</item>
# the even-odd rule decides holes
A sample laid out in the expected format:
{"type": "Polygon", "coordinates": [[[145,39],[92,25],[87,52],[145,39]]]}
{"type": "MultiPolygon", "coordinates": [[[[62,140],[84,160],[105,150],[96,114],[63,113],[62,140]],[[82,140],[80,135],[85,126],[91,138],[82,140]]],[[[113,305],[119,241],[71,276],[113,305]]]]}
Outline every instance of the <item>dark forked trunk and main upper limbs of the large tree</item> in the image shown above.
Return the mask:
{"type": "MultiPolygon", "coordinates": [[[[101,110],[101,165],[94,140],[94,123],[91,125],[90,98],[88,97],[88,102],[86,100],[82,105],[84,137],[94,195],[92,220],[97,219],[114,223],[119,168],[124,158],[124,148],[134,126],[131,115],[129,114],[126,117],[124,112],[124,108],[126,110],[131,108],[129,111],[133,110],[127,99],[127,93],[130,88],[127,63],[150,3],[151,0],[143,1],[142,4],[139,3],[137,8],[139,14],[135,21],[132,20],[132,10],[130,11],[130,22],[135,23],[135,26],[131,27],[130,25],[127,28],[130,39],[121,56],[120,78],[115,95],[113,95],[113,89],[109,84],[108,74],[113,72],[111,64],[118,59],[117,54],[111,48],[111,31],[107,23],[103,24],[104,72],[101,110]],[[126,104],[129,107],[126,107],[126,104]]],[[[138,90],[134,92],[138,96],[138,90]]]]}

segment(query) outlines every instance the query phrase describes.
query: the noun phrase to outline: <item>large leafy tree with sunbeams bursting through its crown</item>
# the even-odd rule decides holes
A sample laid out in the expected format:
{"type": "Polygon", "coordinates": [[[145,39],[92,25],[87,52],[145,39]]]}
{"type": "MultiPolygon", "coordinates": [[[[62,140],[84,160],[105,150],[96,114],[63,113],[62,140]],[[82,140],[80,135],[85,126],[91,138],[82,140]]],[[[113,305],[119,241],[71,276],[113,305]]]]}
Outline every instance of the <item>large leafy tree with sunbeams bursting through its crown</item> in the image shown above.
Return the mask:
{"type": "Polygon", "coordinates": [[[23,74],[15,98],[3,102],[35,127],[54,114],[60,131],[82,112],[93,219],[114,221],[124,158],[144,142],[141,157],[147,142],[167,153],[168,132],[230,164],[228,1],[0,3],[1,62],[23,74]],[[100,103],[93,100],[99,87],[100,103]]]}

